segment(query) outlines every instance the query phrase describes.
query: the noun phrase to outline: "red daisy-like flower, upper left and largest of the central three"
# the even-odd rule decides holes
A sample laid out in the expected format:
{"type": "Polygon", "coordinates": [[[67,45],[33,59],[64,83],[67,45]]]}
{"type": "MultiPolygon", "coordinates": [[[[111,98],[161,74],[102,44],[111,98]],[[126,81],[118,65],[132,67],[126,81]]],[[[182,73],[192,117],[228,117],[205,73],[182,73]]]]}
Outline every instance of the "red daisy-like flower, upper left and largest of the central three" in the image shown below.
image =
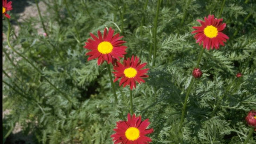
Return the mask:
{"type": "Polygon", "coordinates": [[[91,59],[98,58],[98,65],[102,64],[105,60],[108,64],[113,62],[113,58],[119,59],[119,57],[124,57],[125,48],[126,46],[122,45],[125,43],[121,39],[123,36],[119,37],[119,34],[114,34],[114,30],[109,28],[107,33],[107,28],[104,29],[103,38],[102,33],[98,31],[98,37],[90,33],[90,36],[93,38],[88,39],[88,42],[85,42],[84,48],[91,50],[90,52],[86,53],[89,55],[88,61],[91,59]]]}

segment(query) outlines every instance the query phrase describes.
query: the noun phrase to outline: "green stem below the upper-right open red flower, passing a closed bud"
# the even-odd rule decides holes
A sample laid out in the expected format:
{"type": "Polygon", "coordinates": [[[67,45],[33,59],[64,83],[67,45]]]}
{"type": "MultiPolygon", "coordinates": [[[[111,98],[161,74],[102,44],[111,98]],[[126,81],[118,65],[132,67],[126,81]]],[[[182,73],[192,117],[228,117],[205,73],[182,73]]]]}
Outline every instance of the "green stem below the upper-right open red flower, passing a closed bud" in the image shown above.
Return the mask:
{"type": "MultiPolygon", "coordinates": [[[[197,63],[196,63],[196,68],[198,68],[198,66],[199,66],[199,63],[200,63],[201,58],[202,58],[202,56],[203,56],[203,53],[204,53],[204,48],[202,47],[201,52],[200,52],[200,54],[199,54],[199,56],[198,56],[198,61],[197,61],[197,63]]],[[[192,77],[191,81],[189,82],[189,87],[188,87],[188,90],[187,90],[187,92],[186,92],[186,97],[185,97],[184,104],[183,104],[183,108],[182,108],[181,119],[180,119],[180,125],[179,125],[180,132],[182,132],[183,121],[184,121],[185,112],[186,112],[186,104],[187,104],[187,101],[188,101],[188,98],[189,98],[190,90],[191,90],[191,88],[192,88],[194,82],[195,82],[195,78],[192,77]]]]}

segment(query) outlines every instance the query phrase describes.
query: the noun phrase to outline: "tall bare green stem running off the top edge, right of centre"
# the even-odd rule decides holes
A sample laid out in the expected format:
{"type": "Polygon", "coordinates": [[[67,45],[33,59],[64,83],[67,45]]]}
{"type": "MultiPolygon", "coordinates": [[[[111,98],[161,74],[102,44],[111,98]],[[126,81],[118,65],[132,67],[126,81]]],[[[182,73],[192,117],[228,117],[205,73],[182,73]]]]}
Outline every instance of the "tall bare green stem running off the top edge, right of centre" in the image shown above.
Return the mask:
{"type": "Polygon", "coordinates": [[[157,53],[157,20],[158,20],[158,14],[159,14],[159,8],[160,8],[161,0],[157,0],[157,14],[154,20],[154,53],[153,53],[153,66],[155,66],[155,59],[156,59],[156,53],[157,53]]]}

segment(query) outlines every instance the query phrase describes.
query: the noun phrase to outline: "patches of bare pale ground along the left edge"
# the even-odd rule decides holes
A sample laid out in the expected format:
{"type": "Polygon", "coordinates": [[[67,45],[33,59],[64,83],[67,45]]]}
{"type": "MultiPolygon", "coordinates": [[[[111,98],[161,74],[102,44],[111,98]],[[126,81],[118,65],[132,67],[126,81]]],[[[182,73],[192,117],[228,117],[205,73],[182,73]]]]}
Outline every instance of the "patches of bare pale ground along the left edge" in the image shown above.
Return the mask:
{"type": "MultiPolygon", "coordinates": [[[[47,6],[43,2],[39,2],[38,5],[41,10],[41,14],[42,15],[47,14],[47,6]]],[[[43,28],[41,28],[41,25],[40,25],[40,20],[38,16],[38,10],[35,5],[35,0],[12,0],[12,8],[13,10],[10,12],[12,13],[11,16],[15,14],[15,16],[13,17],[16,17],[17,22],[19,23],[29,17],[37,17],[38,25],[36,25],[35,28],[38,30],[38,34],[44,33],[43,28]]],[[[12,23],[12,20],[11,20],[11,23],[12,23]]],[[[14,27],[15,34],[18,36],[20,28],[15,23],[12,23],[12,26],[14,27]]],[[[6,34],[3,34],[3,40],[6,40],[6,34]]],[[[4,63],[4,56],[3,56],[3,63],[4,63]]],[[[11,110],[4,110],[2,113],[3,117],[8,115],[10,111],[11,110]]],[[[30,132],[28,136],[24,136],[22,130],[23,129],[20,126],[20,124],[16,123],[14,130],[12,131],[11,135],[9,135],[9,137],[6,139],[5,144],[36,144],[36,142],[34,141],[35,136],[33,135],[33,133],[30,132]]]]}

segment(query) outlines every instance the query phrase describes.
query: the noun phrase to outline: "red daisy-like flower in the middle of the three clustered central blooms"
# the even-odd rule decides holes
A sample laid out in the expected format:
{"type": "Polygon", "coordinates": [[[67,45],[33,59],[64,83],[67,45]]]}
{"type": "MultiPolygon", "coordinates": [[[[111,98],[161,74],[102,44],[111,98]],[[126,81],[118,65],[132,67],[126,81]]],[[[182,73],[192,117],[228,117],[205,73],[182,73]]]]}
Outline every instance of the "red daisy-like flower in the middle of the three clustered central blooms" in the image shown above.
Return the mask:
{"type": "Polygon", "coordinates": [[[123,87],[126,85],[130,85],[130,89],[136,88],[136,81],[137,82],[145,82],[145,77],[148,77],[145,73],[148,73],[149,68],[142,69],[147,63],[140,64],[140,59],[135,56],[131,56],[131,59],[124,59],[123,65],[120,62],[116,62],[114,65],[114,74],[116,78],[114,82],[116,82],[119,78],[121,78],[119,82],[119,86],[122,84],[123,87]],[[142,69],[142,70],[141,70],[142,69]]]}

